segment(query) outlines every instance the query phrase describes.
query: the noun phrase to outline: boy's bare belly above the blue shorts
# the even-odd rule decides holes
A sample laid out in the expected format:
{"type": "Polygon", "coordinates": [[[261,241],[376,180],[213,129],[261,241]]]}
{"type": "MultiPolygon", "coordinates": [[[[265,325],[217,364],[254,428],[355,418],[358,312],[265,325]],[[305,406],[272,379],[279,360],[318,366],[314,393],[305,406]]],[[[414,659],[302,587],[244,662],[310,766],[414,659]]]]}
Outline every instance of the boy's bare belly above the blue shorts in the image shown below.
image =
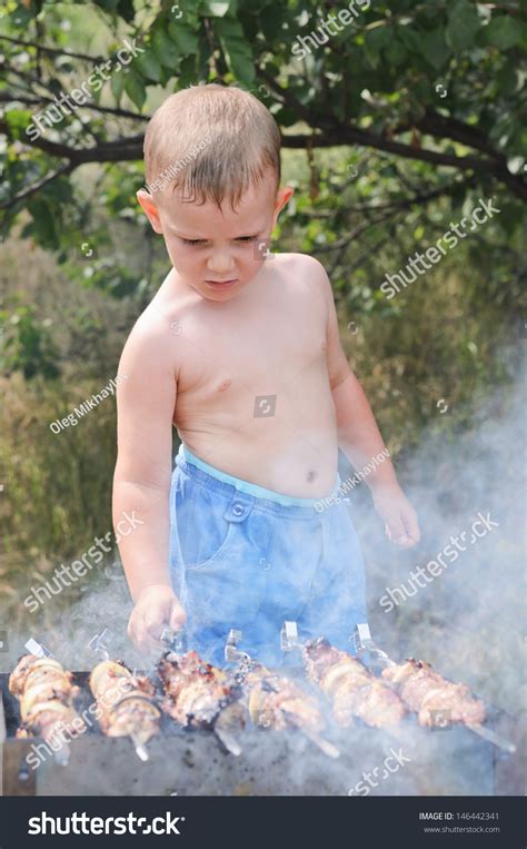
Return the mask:
{"type": "Polygon", "coordinates": [[[178,398],[182,442],[235,477],[300,498],[320,498],[337,480],[335,405],[326,369],[307,368],[276,393],[247,385],[178,398]]]}

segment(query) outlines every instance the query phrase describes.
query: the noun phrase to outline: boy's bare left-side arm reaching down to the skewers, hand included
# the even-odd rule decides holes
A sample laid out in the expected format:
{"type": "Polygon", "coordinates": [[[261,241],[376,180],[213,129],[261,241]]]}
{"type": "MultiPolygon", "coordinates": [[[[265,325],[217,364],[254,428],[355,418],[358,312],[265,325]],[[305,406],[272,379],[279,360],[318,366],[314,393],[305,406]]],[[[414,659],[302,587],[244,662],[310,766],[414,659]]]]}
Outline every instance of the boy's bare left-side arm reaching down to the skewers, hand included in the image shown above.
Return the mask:
{"type": "Polygon", "coordinates": [[[118,457],[113,475],[113,525],[135,513],[136,527],[121,535],[119,551],[136,606],[128,633],[140,648],[153,646],[163,624],[181,628],[185,613],[169,572],[169,493],[172,417],[176,404],[173,336],[145,317],[133,328],[117,389],[118,457]]]}

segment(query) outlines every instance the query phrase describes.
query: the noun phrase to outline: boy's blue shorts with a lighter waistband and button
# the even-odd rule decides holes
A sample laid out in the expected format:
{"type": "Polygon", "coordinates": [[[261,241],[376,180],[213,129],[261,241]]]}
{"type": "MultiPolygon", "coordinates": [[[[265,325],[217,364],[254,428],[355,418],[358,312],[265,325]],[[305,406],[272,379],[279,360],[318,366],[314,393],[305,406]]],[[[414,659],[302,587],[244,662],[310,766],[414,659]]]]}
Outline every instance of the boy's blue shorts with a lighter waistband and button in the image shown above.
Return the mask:
{"type": "MultiPolygon", "coordinates": [[[[180,446],[170,492],[170,570],[189,648],[223,665],[231,628],[260,662],[282,664],[280,628],[354,651],[366,622],[364,563],[346,502],[318,512],[240,481],[180,446]]],[[[320,506],[320,505],[319,505],[320,506]]]]}

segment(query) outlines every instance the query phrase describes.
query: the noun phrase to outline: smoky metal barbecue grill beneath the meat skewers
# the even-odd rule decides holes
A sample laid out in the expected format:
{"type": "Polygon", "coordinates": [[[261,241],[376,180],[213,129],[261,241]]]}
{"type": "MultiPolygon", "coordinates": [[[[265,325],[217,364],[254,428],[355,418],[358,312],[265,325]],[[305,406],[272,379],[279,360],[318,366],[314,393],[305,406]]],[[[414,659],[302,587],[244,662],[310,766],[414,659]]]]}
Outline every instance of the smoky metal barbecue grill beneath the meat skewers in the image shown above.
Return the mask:
{"type": "MultiPolygon", "coordinates": [[[[365,629],[360,626],[355,635],[359,657],[369,659],[371,668],[390,663],[365,629]]],[[[231,663],[248,659],[239,648],[241,641],[241,632],[229,634],[226,658],[231,663]]],[[[294,650],[301,645],[289,623],[282,630],[284,650],[295,657],[294,650]]],[[[73,672],[86,705],[92,701],[89,674],[88,670],[73,672]]],[[[288,674],[298,674],[306,687],[300,668],[289,668],[288,674]]],[[[33,770],[26,758],[44,743],[39,738],[14,737],[20,712],[8,680],[8,673],[0,673],[0,792],[4,796],[347,796],[362,772],[381,768],[392,750],[404,753],[405,764],[370,787],[371,796],[520,796],[525,789],[518,722],[494,709],[487,711],[486,729],[498,740],[516,744],[516,751],[498,748],[463,725],[426,729],[408,717],[395,732],[359,722],[341,729],[328,721],[324,737],[340,751],[337,760],[298,730],[251,727],[239,734],[241,753],[235,757],[215,733],[181,729],[165,717],[161,733],[148,743],[146,762],[129,738],[108,738],[93,723],[71,742],[68,763],[49,756],[33,770]]]]}

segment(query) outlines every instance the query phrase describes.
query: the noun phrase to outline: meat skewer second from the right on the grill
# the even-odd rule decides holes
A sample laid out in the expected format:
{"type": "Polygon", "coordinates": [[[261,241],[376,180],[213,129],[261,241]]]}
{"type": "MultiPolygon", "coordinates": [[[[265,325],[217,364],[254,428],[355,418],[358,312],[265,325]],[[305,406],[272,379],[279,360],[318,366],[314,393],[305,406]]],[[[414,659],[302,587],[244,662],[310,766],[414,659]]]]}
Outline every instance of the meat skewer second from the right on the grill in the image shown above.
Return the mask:
{"type": "Polygon", "coordinates": [[[308,678],[331,700],[339,725],[350,725],[354,717],[372,728],[390,728],[401,721],[402,701],[356,658],[322,638],[309,640],[302,657],[308,678]]]}

